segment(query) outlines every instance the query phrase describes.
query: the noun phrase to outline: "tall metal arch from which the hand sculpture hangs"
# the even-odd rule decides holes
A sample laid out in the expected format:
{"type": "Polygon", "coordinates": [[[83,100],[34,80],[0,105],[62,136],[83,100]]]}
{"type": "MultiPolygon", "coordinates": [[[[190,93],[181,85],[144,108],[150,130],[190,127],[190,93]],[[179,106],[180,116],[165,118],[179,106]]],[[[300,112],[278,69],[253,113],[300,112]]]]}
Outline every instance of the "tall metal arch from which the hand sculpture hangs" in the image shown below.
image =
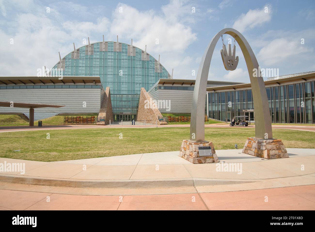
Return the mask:
{"type": "Polygon", "coordinates": [[[257,74],[257,72],[260,72],[255,54],[241,33],[233,28],[225,28],[212,38],[199,65],[192,97],[190,140],[195,142],[205,141],[204,103],[206,100],[210,62],[215,45],[223,34],[229,34],[236,39],[246,61],[255,104],[255,137],[260,139],[272,139],[271,116],[265,83],[261,75],[258,75],[258,77],[254,76],[254,73],[257,74]]]}

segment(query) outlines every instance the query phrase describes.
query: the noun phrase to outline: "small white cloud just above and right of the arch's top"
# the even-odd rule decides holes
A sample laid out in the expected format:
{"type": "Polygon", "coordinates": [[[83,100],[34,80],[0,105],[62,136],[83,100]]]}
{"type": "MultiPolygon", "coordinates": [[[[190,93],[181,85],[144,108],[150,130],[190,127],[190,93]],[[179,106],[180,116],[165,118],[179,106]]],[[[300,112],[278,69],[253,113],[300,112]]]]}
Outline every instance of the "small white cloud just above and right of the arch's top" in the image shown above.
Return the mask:
{"type": "Polygon", "coordinates": [[[242,14],[234,22],[233,28],[239,32],[244,32],[245,30],[252,29],[256,26],[261,26],[262,24],[268,22],[272,18],[272,9],[270,5],[266,5],[262,9],[249,10],[246,14],[242,14]],[[265,7],[268,8],[266,13],[265,7]]]}

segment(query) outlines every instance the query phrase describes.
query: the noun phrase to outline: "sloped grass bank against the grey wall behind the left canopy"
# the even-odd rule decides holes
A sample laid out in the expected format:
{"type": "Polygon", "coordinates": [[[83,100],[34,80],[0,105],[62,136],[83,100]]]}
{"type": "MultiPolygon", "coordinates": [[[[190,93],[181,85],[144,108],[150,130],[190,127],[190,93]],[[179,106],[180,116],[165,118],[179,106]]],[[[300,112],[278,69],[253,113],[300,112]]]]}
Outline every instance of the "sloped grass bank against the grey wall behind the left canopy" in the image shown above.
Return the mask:
{"type": "MultiPolygon", "coordinates": [[[[98,116],[98,113],[90,114],[59,114],[42,119],[43,126],[63,125],[64,116],[98,116]]],[[[0,115],[0,126],[28,126],[28,120],[18,115],[0,115]]],[[[34,121],[34,126],[38,126],[38,121],[34,121]]]]}

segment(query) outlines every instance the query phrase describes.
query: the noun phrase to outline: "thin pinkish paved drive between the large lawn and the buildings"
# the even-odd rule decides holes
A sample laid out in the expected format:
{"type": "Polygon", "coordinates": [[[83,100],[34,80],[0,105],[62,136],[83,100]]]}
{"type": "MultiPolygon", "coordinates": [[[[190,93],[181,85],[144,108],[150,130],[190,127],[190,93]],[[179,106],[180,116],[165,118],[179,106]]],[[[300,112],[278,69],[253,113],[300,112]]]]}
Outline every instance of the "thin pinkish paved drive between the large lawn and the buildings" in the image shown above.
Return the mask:
{"type": "MultiPolygon", "coordinates": [[[[152,128],[156,127],[155,125],[61,125],[61,126],[8,126],[8,127],[0,127],[1,132],[14,132],[14,131],[28,131],[28,130],[61,130],[61,129],[88,129],[88,128],[152,128]]],[[[159,128],[165,127],[190,127],[189,124],[172,124],[172,125],[158,125],[159,128]]],[[[242,128],[246,130],[246,128],[255,128],[255,125],[249,125],[248,127],[230,127],[229,124],[225,123],[217,123],[217,124],[205,124],[205,128],[242,128]]],[[[273,129],[290,129],[290,130],[301,130],[301,131],[311,131],[315,132],[315,126],[308,125],[272,125],[273,129]]]]}

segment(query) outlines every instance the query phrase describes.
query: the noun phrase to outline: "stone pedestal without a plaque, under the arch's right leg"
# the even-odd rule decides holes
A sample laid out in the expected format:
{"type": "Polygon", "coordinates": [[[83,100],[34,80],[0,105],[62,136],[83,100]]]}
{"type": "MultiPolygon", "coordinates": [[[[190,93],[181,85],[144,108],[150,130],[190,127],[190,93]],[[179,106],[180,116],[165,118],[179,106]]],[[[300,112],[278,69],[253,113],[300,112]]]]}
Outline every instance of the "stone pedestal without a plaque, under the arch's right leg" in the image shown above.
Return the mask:
{"type": "Polygon", "coordinates": [[[282,140],[247,138],[243,153],[264,159],[289,158],[282,140]]]}

